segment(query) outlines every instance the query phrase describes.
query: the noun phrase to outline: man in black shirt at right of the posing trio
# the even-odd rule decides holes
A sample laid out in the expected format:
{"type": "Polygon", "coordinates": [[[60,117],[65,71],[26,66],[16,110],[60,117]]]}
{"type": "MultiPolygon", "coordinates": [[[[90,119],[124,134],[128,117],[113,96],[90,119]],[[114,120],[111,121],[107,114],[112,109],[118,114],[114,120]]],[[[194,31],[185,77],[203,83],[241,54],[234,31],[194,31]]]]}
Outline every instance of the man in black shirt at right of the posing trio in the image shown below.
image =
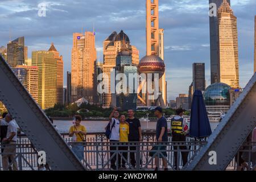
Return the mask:
{"type": "MultiPolygon", "coordinates": [[[[142,141],[142,132],[141,132],[141,122],[138,118],[134,117],[134,110],[129,109],[127,111],[128,118],[126,121],[129,123],[129,142],[141,142],[142,141]]],[[[135,151],[136,147],[130,147],[131,151],[135,151]]],[[[137,154],[139,155],[139,154],[137,154]]],[[[130,152],[131,166],[135,168],[135,152],[130,152]]],[[[138,167],[138,166],[137,166],[138,167]]]]}

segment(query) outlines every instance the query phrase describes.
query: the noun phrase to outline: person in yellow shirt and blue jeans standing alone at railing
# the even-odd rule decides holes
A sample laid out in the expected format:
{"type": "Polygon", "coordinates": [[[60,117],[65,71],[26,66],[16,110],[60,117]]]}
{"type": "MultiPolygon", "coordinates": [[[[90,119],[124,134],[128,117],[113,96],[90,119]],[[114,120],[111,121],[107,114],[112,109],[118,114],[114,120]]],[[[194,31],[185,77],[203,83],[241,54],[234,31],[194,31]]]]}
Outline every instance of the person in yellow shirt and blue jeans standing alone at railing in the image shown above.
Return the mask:
{"type": "Polygon", "coordinates": [[[72,150],[80,160],[84,159],[84,145],[82,142],[85,142],[84,138],[86,135],[86,128],[81,125],[81,121],[80,115],[75,116],[75,123],[69,129],[69,137],[72,137],[73,142],[75,142],[72,143],[72,150]]]}

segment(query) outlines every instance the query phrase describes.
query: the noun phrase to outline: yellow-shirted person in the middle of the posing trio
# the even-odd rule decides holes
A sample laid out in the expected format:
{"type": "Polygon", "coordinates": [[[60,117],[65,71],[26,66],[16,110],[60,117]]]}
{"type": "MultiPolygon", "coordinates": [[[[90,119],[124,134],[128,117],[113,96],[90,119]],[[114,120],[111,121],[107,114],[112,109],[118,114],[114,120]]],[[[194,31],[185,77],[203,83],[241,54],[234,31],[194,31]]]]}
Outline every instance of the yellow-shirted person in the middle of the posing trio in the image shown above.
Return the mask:
{"type": "MultiPolygon", "coordinates": [[[[129,123],[126,122],[125,115],[120,116],[120,133],[119,133],[119,142],[128,142],[128,136],[129,136],[129,123]]],[[[127,151],[128,146],[121,146],[118,147],[118,150],[123,151],[122,156],[118,156],[118,167],[120,169],[126,169],[125,163],[127,160],[127,151]],[[122,158],[122,159],[121,159],[122,158]]]]}

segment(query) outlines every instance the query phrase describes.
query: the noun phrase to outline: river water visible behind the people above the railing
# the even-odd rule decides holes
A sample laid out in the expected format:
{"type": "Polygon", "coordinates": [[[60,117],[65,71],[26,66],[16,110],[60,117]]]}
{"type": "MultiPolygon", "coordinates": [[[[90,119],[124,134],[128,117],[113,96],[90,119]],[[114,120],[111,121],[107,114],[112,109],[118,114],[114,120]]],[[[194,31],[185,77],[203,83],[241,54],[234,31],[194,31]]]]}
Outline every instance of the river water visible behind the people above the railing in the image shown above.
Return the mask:
{"type": "MultiPolygon", "coordinates": [[[[73,125],[73,121],[54,121],[54,125],[60,133],[68,133],[69,127],[73,125]]],[[[105,127],[108,125],[108,121],[82,121],[81,125],[86,127],[88,133],[101,133],[105,132],[105,127]]],[[[217,127],[218,123],[210,123],[212,131],[217,127]]],[[[142,130],[154,130],[156,128],[156,122],[141,122],[142,130]]],[[[170,129],[170,122],[168,122],[168,129],[170,129]]]]}

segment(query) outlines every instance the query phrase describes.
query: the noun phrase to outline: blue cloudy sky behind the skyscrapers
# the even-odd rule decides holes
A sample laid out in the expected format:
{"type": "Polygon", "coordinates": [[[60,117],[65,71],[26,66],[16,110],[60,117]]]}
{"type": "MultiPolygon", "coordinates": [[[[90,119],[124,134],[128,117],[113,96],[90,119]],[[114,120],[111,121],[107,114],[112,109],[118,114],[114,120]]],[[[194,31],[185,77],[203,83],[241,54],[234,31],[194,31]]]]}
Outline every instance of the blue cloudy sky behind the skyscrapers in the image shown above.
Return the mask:
{"type": "MultiPolygon", "coordinates": [[[[240,86],[253,75],[255,0],[231,0],[237,16],[240,86]]],[[[188,93],[192,64],[205,63],[207,86],[210,84],[210,47],[208,0],[159,0],[159,27],[164,28],[164,61],[167,97],[174,100],[188,93]]],[[[53,42],[71,70],[72,34],[96,32],[98,59],[102,43],[113,32],[123,30],[139,56],[146,55],[145,0],[0,0],[0,46],[19,36],[25,37],[28,57],[31,51],[48,50],[53,42]],[[46,5],[46,16],[39,16],[39,5],[46,5]]]]}

